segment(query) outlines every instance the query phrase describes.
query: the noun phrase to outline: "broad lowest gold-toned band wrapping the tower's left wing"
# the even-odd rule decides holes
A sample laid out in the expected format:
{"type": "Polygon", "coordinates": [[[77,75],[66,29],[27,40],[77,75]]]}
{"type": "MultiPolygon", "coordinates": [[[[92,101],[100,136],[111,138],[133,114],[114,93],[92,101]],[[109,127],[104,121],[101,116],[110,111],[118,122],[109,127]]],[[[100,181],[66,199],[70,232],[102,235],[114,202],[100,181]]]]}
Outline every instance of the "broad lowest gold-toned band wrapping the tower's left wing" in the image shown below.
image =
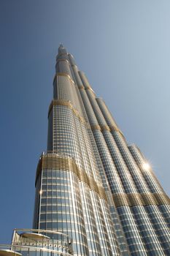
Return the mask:
{"type": "Polygon", "coordinates": [[[36,169],[36,180],[42,170],[63,170],[72,172],[77,176],[77,178],[79,178],[80,181],[88,185],[91,191],[96,192],[99,197],[107,200],[107,195],[104,191],[104,188],[98,186],[96,181],[93,178],[90,178],[87,173],[85,173],[85,170],[81,170],[72,157],[54,153],[44,154],[39,159],[39,163],[36,169]]]}

